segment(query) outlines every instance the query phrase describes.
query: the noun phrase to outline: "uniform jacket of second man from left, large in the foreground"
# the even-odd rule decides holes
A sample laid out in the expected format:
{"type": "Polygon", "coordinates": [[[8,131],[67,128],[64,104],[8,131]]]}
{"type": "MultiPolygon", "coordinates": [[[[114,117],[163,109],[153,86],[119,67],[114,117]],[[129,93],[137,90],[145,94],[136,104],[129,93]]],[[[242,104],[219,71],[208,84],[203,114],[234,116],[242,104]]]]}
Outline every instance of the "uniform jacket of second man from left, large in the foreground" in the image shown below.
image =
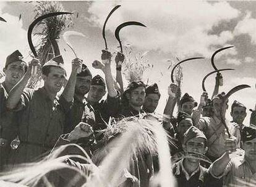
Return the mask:
{"type": "Polygon", "coordinates": [[[44,87],[23,91],[15,108],[20,145],[11,151],[12,164],[31,162],[53,148],[64,131],[65,114],[71,103],[63,97],[52,102],[44,87]]]}

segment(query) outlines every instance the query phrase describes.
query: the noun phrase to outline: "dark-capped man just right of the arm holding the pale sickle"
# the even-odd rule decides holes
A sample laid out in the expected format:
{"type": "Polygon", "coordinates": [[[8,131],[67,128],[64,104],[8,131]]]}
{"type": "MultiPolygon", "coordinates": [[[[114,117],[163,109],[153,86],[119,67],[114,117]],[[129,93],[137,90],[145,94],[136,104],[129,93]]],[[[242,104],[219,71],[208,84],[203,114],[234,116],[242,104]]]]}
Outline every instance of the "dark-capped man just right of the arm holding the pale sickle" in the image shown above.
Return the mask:
{"type": "Polygon", "coordinates": [[[93,125],[95,122],[94,112],[92,106],[87,102],[85,94],[89,92],[92,82],[92,73],[85,64],[82,64],[82,70],[77,73],[75,81],[74,103],[69,113],[66,115],[64,133],[69,133],[74,127],[82,121],[83,111],[87,114],[84,122],[93,125]]]}

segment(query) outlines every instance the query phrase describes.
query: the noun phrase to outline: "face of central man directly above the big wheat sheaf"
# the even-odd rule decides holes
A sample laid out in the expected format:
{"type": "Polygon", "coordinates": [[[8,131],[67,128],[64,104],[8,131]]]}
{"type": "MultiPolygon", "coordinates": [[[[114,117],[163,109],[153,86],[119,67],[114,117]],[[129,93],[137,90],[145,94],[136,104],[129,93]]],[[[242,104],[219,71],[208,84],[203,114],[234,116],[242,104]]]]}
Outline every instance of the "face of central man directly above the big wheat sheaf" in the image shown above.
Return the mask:
{"type": "Polygon", "coordinates": [[[131,106],[142,106],[145,101],[145,88],[138,87],[137,89],[132,90],[130,94],[127,94],[127,98],[131,106]]]}

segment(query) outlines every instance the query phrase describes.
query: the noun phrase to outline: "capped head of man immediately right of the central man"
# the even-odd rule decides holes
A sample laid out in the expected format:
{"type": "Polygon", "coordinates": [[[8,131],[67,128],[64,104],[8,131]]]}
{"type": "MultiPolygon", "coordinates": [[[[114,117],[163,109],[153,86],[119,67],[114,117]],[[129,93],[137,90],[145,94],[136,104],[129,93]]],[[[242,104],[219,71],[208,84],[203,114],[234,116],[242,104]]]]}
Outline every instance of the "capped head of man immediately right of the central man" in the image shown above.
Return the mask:
{"type": "Polygon", "coordinates": [[[146,97],[145,97],[145,102],[143,103],[142,109],[146,113],[154,113],[161,97],[157,84],[155,83],[148,86],[145,92],[146,92],[146,97]]]}

